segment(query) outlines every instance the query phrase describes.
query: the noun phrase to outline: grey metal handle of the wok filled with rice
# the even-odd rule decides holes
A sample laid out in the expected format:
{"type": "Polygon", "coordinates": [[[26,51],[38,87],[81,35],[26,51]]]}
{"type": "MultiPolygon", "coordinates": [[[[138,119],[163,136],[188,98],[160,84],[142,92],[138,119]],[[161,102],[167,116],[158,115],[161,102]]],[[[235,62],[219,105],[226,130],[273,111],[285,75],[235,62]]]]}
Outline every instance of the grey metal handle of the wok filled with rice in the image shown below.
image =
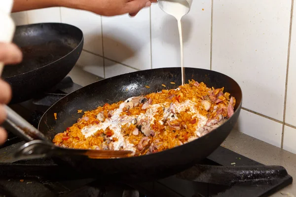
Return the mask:
{"type": "Polygon", "coordinates": [[[40,131],[38,131],[10,107],[5,105],[5,109],[7,113],[5,122],[13,128],[13,130],[11,130],[13,134],[18,135],[26,141],[31,141],[34,139],[48,140],[40,131]]]}

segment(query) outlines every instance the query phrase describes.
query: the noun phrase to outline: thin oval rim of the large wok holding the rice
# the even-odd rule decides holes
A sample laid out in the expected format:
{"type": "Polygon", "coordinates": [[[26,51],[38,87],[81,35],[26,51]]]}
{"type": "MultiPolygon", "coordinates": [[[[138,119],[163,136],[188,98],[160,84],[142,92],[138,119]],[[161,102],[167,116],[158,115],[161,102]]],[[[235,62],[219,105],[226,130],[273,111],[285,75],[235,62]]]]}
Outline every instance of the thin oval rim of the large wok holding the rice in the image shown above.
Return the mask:
{"type": "MultiPolygon", "coordinates": [[[[180,68],[180,69],[181,69],[181,67],[162,67],[162,68],[152,68],[152,69],[145,69],[145,70],[137,70],[137,71],[130,72],[130,73],[144,72],[144,71],[147,71],[147,70],[172,69],[172,68],[180,68]]],[[[236,107],[236,109],[235,109],[233,115],[232,115],[230,118],[228,118],[228,119],[227,119],[222,125],[224,125],[225,123],[231,121],[231,120],[234,118],[234,115],[235,115],[235,114],[240,113],[240,111],[241,111],[241,106],[242,106],[242,102],[243,102],[243,93],[242,93],[242,89],[241,89],[240,85],[239,85],[239,84],[238,84],[238,83],[237,83],[232,77],[230,77],[230,76],[228,76],[228,75],[225,75],[225,74],[223,74],[223,73],[221,73],[221,72],[218,72],[218,71],[215,71],[215,70],[210,70],[210,69],[195,68],[195,67],[184,67],[184,68],[185,68],[185,69],[192,69],[192,68],[193,68],[193,69],[199,69],[199,70],[205,70],[205,71],[216,72],[216,73],[219,73],[219,74],[221,74],[221,75],[224,75],[224,76],[230,78],[231,80],[233,80],[233,81],[236,83],[236,85],[238,86],[238,88],[239,88],[239,93],[240,93],[240,95],[241,95],[241,101],[240,101],[240,103],[237,105],[237,107],[236,107]]],[[[113,76],[113,77],[110,77],[110,78],[106,78],[106,79],[112,80],[112,79],[115,78],[115,77],[119,77],[119,76],[126,75],[126,74],[129,74],[129,73],[116,75],[116,76],[113,76]]],[[[106,80],[106,79],[102,79],[102,80],[106,80]]],[[[99,81],[102,81],[102,80],[99,80],[99,81]]],[[[43,119],[43,117],[45,116],[45,114],[47,114],[47,112],[48,112],[48,111],[49,111],[49,110],[50,110],[50,109],[51,109],[56,103],[58,103],[60,100],[62,100],[62,99],[64,99],[64,98],[66,98],[67,96],[69,96],[69,95],[71,95],[71,94],[74,94],[74,93],[77,92],[78,90],[80,90],[80,89],[82,89],[82,88],[85,88],[85,87],[87,87],[87,86],[91,86],[92,84],[97,83],[97,82],[98,82],[98,81],[95,81],[95,82],[93,82],[93,83],[91,83],[91,84],[88,84],[88,85],[86,85],[86,86],[84,86],[84,87],[81,87],[81,88],[77,89],[76,91],[74,91],[74,92],[72,92],[72,93],[66,95],[65,97],[59,99],[58,101],[56,101],[56,102],[55,102],[52,106],[50,106],[50,107],[44,112],[44,114],[41,116],[40,121],[39,121],[39,123],[38,123],[38,130],[39,130],[39,127],[40,127],[41,120],[43,119]]],[[[221,126],[222,126],[222,125],[221,125],[221,126]]],[[[219,126],[218,128],[220,128],[221,126],[219,126]]],[[[214,129],[214,130],[211,131],[210,133],[217,131],[218,128],[214,129]]],[[[229,132],[230,132],[230,131],[229,131],[229,132]]],[[[194,139],[194,140],[192,140],[192,141],[190,141],[190,142],[187,142],[187,143],[185,143],[185,144],[183,144],[183,145],[181,145],[181,146],[184,146],[184,145],[190,144],[191,142],[194,142],[195,140],[198,140],[198,139],[201,139],[201,138],[205,138],[205,137],[207,137],[207,135],[210,134],[210,133],[207,133],[207,134],[205,134],[204,136],[199,137],[199,138],[196,138],[196,139],[194,139]]],[[[52,141],[52,140],[51,140],[51,141],[52,141]]],[[[172,151],[172,150],[174,150],[174,149],[176,149],[176,148],[178,148],[178,147],[179,147],[179,146],[176,146],[176,147],[173,147],[173,148],[170,148],[170,149],[166,149],[166,150],[163,150],[163,151],[160,151],[160,152],[156,152],[156,153],[152,153],[152,154],[148,154],[148,155],[140,155],[140,156],[126,157],[126,158],[111,158],[111,159],[112,159],[112,160],[126,160],[126,159],[139,158],[139,157],[151,157],[151,156],[153,157],[154,155],[157,155],[157,154],[165,154],[166,152],[172,151]]],[[[88,158],[88,159],[90,159],[90,158],[88,158]]],[[[91,160],[98,160],[98,161],[101,161],[101,160],[110,160],[110,159],[91,159],[91,160]]]]}

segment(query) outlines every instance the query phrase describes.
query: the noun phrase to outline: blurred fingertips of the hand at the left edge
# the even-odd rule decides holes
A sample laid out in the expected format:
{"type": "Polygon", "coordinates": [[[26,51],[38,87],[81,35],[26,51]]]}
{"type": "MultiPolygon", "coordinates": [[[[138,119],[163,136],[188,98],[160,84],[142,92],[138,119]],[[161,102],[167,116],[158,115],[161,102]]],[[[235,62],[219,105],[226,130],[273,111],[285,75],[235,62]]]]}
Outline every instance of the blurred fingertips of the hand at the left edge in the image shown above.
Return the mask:
{"type": "MultiPolygon", "coordinates": [[[[22,52],[14,44],[0,42],[0,62],[5,64],[17,64],[22,61],[22,52]]],[[[6,119],[6,111],[4,104],[11,99],[11,88],[2,79],[0,79],[0,124],[6,119]]],[[[4,143],[7,133],[0,128],[0,144],[4,143]]]]}

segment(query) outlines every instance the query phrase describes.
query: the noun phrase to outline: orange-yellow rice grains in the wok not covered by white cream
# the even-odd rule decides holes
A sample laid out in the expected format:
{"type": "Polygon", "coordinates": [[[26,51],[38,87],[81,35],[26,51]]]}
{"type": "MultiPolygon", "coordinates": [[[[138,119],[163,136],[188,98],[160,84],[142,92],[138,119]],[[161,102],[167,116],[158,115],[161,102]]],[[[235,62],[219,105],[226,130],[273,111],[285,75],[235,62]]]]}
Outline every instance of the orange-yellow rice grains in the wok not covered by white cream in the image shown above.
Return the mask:
{"type": "MultiPolygon", "coordinates": [[[[210,96],[210,92],[212,94],[217,95],[219,92],[223,92],[224,88],[221,89],[214,89],[208,88],[203,82],[197,83],[198,86],[195,86],[194,84],[197,83],[194,80],[189,81],[188,84],[179,86],[178,89],[171,89],[171,90],[162,90],[159,93],[151,93],[146,95],[145,97],[147,99],[152,99],[151,104],[159,104],[159,103],[181,103],[186,100],[190,100],[194,103],[195,106],[198,108],[198,113],[208,117],[209,119],[215,118],[217,116],[217,110],[214,108],[227,108],[227,105],[229,103],[230,94],[225,92],[221,96],[219,96],[219,99],[222,100],[222,102],[216,104],[214,102],[211,103],[210,109],[207,111],[202,107],[202,100],[204,100],[205,97],[210,96]]],[[[171,84],[174,84],[174,82],[171,82],[171,84]]],[[[146,86],[148,88],[148,86],[146,86]]],[[[235,99],[233,98],[233,106],[235,105],[235,99]]],[[[84,127],[90,126],[90,125],[96,125],[100,124],[101,121],[97,119],[97,115],[102,112],[104,114],[104,117],[108,117],[108,112],[111,110],[114,110],[119,107],[119,105],[123,101],[119,101],[116,103],[106,103],[104,106],[99,106],[98,108],[92,110],[92,111],[85,111],[84,115],[77,123],[75,123],[73,126],[67,128],[66,131],[62,133],[58,133],[54,139],[53,142],[58,146],[64,146],[69,148],[77,148],[77,149],[100,149],[102,146],[102,143],[104,142],[103,136],[111,136],[113,134],[113,131],[109,128],[106,130],[99,130],[95,132],[90,137],[85,137],[81,130],[84,127]],[[87,117],[87,118],[85,118],[87,117]]],[[[121,115],[139,115],[141,113],[145,113],[147,109],[142,109],[143,104],[141,103],[137,107],[133,107],[129,110],[124,110],[121,113],[121,115]]],[[[77,110],[78,113],[80,110],[77,110]]],[[[82,111],[82,110],[81,110],[82,111]]],[[[199,122],[198,119],[192,118],[192,114],[188,113],[187,111],[180,112],[179,114],[176,114],[178,118],[171,122],[171,124],[178,124],[180,125],[181,129],[176,130],[174,128],[169,127],[167,124],[160,124],[158,120],[160,120],[163,117],[163,110],[162,107],[159,107],[157,113],[154,115],[155,121],[154,124],[151,125],[151,130],[154,131],[153,136],[149,136],[149,144],[154,143],[157,145],[157,150],[154,150],[153,152],[162,151],[165,149],[173,148],[175,146],[182,145],[186,142],[188,142],[188,139],[190,137],[196,137],[195,131],[197,124],[199,122]]],[[[227,118],[227,111],[224,110],[222,113],[222,116],[224,118],[227,118]]],[[[126,124],[122,126],[121,133],[124,136],[125,140],[128,140],[129,143],[133,144],[135,147],[139,145],[140,140],[145,137],[145,135],[142,132],[139,132],[138,135],[132,134],[132,132],[135,130],[136,126],[133,124],[126,124]]],[[[112,141],[116,141],[116,138],[113,138],[112,141]]],[[[149,144],[146,144],[148,147],[149,144]]],[[[143,151],[137,150],[136,152],[139,155],[147,154],[148,148],[145,148],[143,151]]]]}

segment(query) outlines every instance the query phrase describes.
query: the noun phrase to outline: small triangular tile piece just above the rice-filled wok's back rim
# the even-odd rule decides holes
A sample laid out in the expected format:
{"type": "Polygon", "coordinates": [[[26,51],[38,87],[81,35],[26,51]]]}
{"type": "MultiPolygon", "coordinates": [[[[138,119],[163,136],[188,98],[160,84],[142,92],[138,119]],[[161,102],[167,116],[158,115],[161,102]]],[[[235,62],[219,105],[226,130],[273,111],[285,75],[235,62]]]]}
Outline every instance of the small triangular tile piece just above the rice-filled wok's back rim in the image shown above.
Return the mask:
{"type": "Polygon", "coordinates": [[[135,71],[137,70],[105,59],[105,78],[135,71]]]}

